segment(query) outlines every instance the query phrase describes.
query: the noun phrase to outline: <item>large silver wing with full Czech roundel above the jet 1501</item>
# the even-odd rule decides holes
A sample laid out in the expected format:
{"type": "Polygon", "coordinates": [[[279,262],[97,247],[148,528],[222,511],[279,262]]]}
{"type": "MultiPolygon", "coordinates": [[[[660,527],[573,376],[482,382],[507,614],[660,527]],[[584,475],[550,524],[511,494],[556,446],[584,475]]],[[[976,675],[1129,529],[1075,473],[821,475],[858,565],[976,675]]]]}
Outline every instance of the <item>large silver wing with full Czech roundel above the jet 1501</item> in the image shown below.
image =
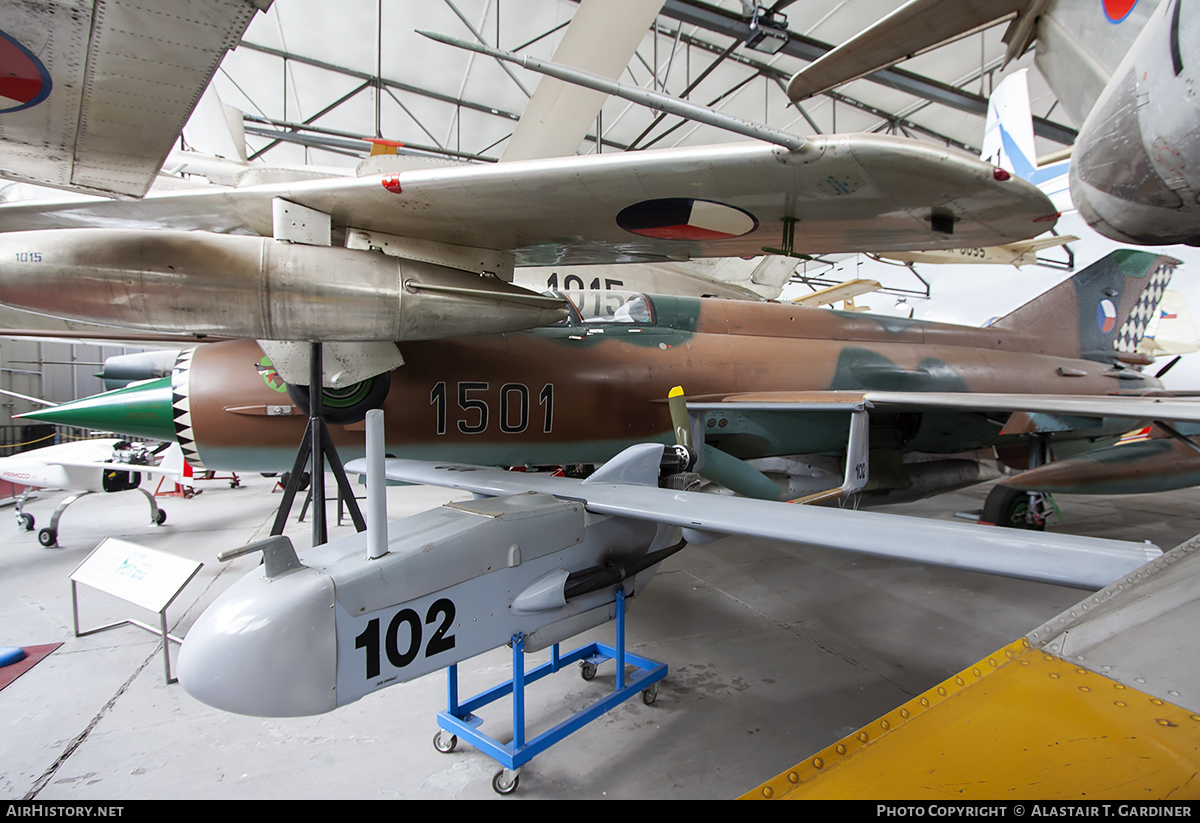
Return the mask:
{"type": "MultiPolygon", "coordinates": [[[[0,206],[0,230],[203,229],[271,236],[275,199],[335,229],[510,252],[517,265],[635,263],[794,251],[958,248],[1049,229],[1051,203],[958,152],[878,134],[817,136],[788,151],[724,144],[359,179],[181,192],[136,202],[0,206]],[[786,245],[786,244],[785,244],[786,245]]],[[[1003,176],[1003,175],[1001,175],[1003,176]]]]}

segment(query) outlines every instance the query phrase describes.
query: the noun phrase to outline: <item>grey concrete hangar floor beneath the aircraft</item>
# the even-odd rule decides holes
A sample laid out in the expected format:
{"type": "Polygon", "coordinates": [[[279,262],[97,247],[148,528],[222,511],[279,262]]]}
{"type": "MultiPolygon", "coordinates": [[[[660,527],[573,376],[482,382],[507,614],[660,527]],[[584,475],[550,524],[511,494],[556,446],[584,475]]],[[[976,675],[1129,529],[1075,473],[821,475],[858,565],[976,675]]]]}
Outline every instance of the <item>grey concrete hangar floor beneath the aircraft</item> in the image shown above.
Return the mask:
{"type": "MultiPolygon", "coordinates": [[[[445,708],[440,673],[332,713],[300,719],[226,714],[167,685],[158,638],[124,626],[74,637],[68,576],[106,536],[204,563],[168,608],[185,636],[203,608],[257,557],[216,554],[269,533],[272,479],[199,481],[191,499],[162,499],[149,524],[139,494],[95,495],[59,529],[61,548],[0,523],[0,645],[61,645],[0,690],[0,797],[10,800],[397,798],[494,799],[497,764],[460,743],[433,750],[445,708]]],[[[332,488],[332,485],[330,485],[332,488]]],[[[988,487],[890,510],[929,517],[982,506],[988,487]]],[[[1081,534],[1148,539],[1168,549],[1200,531],[1194,489],[1126,498],[1060,499],[1081,534]]],[[[28,511],[44,521],[60,494],[28,511]]],[[[392,517],[452,498],[445,489],[389,489],[392,517]]],[[[349,534],[332,527],[331,539],[349,534]]],[[[298,510],[296,510],[298,511],[298,510]]],[[[348,521],[347,521],[348,522],[348,521]]],[[[302,552],[308,523],[288,534],[302,552]]],[[[1079,602],[1086,593],[971,572],[797,551],[725,539],[664,564],[629,613],[631,651],[666,662],[658,701],[610,711],[521,773],[512,799],[736,798],[1079,602]]],[[[136,608],[80,587],[83,627],[136,608]]],[[[613,625],[564,644],[613,641],[613,625]],[[577,642],[576,642],[577,641],[577,642]]],[[[173,650],[174,650],[173,645],[173,650]]],[[[460,666],[462,693],[509,677],[510,651],[460,666]]],[[[541,662],[548,653],[532,655],[541,662]]],[[[613,685],[612,663],[590,683],[574,671],[529,687],[541,731],[613,685]]],[[[488,734],[505,739],[506,702],[488,734]]]]}

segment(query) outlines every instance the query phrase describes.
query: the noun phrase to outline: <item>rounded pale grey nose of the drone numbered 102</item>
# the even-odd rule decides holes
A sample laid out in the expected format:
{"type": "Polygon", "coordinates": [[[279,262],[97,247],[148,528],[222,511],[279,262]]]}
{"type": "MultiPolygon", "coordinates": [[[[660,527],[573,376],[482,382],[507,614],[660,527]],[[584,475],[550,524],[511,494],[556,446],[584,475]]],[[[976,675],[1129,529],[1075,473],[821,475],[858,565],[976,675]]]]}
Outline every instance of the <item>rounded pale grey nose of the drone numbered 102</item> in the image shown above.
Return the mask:
{"type": "Polygon", "coordinates": [[[257,717],[337,705],[332,581],[312,569],[254,570],[200,615],[179,650],[179,681],[216,709],[257,717]]]}

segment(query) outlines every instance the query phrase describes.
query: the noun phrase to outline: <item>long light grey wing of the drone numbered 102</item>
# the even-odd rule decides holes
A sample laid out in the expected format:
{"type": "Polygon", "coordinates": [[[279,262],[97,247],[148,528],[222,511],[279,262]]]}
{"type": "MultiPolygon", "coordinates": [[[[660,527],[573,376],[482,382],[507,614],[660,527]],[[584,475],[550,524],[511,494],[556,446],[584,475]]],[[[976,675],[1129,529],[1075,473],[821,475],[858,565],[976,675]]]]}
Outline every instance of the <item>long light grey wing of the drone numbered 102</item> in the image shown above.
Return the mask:
{"type": "MultiPolygon", "coordinates": [[[[582,500],[588,511],[706,533],[781,540],[880,557],[968,569],[1058,585],[1099,588],[1162,552],[1148,543],[1045,534],[798,506],[658,487],[662,445],[631,446],[587,480],[479,465],[389,458],[389,480],[502,495],[545,492],[582,500]]],[[[349,471],[366,470],[352,461],[349,471]]]]}

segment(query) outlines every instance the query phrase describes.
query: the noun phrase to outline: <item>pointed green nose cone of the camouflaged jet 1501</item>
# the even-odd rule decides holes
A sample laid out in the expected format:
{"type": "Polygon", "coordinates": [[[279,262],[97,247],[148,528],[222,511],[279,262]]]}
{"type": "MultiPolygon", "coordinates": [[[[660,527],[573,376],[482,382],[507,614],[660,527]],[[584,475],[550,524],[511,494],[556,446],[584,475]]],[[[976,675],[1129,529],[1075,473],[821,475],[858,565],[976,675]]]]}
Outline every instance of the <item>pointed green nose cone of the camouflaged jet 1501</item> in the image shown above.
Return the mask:
{"type": "Polygon", "coordinates": [[[169,377],[16,416],[58,426],[115,432],[148,440],[175,441],[175,414],[172,408],[169,377]]]}

